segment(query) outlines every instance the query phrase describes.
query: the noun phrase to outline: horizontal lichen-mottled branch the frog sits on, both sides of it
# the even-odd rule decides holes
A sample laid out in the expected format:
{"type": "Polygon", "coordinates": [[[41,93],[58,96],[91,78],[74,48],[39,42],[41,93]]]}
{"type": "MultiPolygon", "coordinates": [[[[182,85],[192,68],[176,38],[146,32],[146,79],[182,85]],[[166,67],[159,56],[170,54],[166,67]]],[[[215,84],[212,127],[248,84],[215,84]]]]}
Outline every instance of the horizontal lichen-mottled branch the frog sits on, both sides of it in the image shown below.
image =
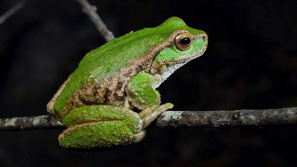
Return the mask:
{"type": "MultiPolygon", "coordinates": [[[[297,123],[297,107],[269,110],[166,111],[155,127],[247,127],[297,123]]],[[[62,128],[53,115],[0,119],[0,130],[62,128]]]]}

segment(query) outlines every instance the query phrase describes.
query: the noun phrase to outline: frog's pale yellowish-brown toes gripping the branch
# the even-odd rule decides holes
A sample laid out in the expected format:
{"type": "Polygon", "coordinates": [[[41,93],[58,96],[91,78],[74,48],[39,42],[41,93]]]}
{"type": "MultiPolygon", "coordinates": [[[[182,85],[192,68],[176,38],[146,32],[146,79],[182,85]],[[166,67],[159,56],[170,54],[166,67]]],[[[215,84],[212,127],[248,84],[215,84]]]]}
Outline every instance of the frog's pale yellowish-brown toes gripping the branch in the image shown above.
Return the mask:
{"type": "Polygon", "coordinates": [[[171,103],[165,103],[161,106],[152,105],[143,109],[140,113],[138,113],[139,117],[142,119],[142,130],[149,126],[153,120],[155,120],[161,113],[166,110],[169,110],[173,107],[171,103]]]}

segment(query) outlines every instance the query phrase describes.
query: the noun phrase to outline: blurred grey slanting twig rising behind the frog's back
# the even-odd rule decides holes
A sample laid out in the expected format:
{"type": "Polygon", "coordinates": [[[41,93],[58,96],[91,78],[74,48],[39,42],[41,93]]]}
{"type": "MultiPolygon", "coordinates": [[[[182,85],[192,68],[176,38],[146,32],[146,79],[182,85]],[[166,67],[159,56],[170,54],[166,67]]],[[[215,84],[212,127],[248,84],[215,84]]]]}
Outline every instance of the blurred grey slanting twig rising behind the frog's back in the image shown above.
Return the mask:
{"type": "Polygon", "coordinates": [[[100,16],[96,13],[96,6],[90,5],[90,3],[87,0],[77,0],[77,2],[79,2],[80,5],[82,5],[82,11],[89,16],[89,18],[97,27],[100,34],[104,37],[104,40],[108,42],[114,39],[114,34],[107,29],[107,26],[103,23],[100,16]]]}

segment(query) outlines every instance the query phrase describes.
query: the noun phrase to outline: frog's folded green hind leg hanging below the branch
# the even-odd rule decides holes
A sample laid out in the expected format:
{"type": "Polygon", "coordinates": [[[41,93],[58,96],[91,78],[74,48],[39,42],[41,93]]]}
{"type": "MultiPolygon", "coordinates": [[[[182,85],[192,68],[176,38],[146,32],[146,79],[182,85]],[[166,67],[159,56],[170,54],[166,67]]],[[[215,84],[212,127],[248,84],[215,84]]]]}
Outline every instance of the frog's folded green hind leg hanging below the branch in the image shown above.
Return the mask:
{"type": "Polygon", "coordinates": [[[65,148],[103,148],[126,145],[145,137],[142,120],[132,110],[117,106],[82,106],[61,118],[68,127],[59,135],[65,148]]]}

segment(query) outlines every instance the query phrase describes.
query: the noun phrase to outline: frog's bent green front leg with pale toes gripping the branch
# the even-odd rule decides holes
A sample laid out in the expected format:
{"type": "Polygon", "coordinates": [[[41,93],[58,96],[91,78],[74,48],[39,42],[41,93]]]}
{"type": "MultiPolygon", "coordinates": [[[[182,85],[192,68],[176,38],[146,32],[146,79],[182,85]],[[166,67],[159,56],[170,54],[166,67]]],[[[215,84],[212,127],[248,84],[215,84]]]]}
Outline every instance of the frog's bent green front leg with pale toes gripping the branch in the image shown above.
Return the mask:
{"type": "Polygon", "coordinates": [[[173,107],[171,103],[159,106],[160,94],[150,85],[150,83],[155,82],[151,78],[156,79],[148,73],[140,73],[131,78],[125,88],[129,102],[142,110],[138,113],[143,122],[142,129],[147,127],[161,113],[173,107]]]}

